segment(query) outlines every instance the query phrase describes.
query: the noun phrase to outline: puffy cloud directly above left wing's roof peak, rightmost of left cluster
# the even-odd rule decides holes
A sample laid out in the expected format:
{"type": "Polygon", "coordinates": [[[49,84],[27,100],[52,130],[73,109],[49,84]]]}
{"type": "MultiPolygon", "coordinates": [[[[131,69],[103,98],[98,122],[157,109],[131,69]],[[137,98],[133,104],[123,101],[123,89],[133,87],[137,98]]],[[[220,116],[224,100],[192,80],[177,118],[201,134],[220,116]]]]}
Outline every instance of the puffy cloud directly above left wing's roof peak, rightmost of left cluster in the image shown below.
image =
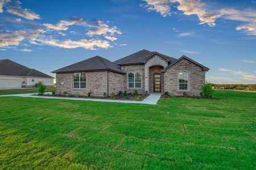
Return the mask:
{"type": "Polygon", "coordinates": [[[117,37],[114,37],[114,34],[117,33],[118,35],[121,35],[122,32],[119,31],[117,27],[110,28],[108,24],[105,24],[101,20],[98,20],[98,27],[96,29],[92,29],[86,33],[88,36],[94,36],[94,35],[102,35],[105,37],[105,39],[108,39],[110,41],[117,40],[117,37]]]}

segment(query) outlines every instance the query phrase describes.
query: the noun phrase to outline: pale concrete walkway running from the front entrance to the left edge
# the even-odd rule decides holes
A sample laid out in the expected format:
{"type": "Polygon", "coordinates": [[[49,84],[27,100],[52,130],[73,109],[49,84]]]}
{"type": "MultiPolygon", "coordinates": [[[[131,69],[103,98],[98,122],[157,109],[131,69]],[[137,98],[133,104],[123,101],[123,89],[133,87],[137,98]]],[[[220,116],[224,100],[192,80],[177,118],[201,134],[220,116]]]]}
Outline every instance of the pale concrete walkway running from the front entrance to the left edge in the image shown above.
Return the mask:
{"type": "MultiPolygon", "coordinates": [[[[46,92],[45,94],[51,94],[51,92],[46,92]]],[[[34,96],[34,94],[14,94],[14,95],[0,95],[0,97],[16,96],[16,97],[33,97],[42,99],[62,99],[62,100],[81,100],[81,101],[101,101],[101,102],[112,102],[112,103],[137,103],[137,104],[156,104],[160,99],[160,93],[153,93],[146,97],[142,101],[133,100],[107,100],[107,99],[85,99],[76,97],[49,97],[49,96],[34,96]]]]}

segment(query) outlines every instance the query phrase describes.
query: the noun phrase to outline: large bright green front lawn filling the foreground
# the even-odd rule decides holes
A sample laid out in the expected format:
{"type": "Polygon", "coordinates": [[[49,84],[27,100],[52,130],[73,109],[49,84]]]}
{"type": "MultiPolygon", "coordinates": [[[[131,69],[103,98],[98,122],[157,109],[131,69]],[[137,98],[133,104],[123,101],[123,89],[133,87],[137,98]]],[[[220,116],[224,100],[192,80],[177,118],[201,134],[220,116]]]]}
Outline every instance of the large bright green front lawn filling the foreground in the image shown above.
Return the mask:
{"type": "Polygon", "coordinates": [[[256,94],[158,105],[0,97],[0,169],[254,169],[256,94]]]}

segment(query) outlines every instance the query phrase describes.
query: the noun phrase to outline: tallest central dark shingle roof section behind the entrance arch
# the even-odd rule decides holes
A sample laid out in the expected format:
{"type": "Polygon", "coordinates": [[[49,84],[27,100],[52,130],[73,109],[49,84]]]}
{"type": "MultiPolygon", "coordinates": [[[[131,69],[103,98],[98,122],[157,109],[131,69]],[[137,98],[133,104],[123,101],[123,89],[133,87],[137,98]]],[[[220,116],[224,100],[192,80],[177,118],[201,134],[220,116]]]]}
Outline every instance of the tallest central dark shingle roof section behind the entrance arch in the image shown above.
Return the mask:
{"type": "Polygon", "coordinates": [[[139,64],[146,63],[147,59],[154,56],[155,54],[157,54],[160,57],[163,57],[164,59],[166,59],[166,61],[170,61],[170,62],[176,61],[176,58],[172,58],[170,56],[166,56],[166,55],[160,54],[158,52],[150,52],[148,50],[143,49],[139,52],[133,53],[129,56],[123,57],[114,62],[117,63],[117,65],[119,65],[119,66],[139,65],[139,64]]]}

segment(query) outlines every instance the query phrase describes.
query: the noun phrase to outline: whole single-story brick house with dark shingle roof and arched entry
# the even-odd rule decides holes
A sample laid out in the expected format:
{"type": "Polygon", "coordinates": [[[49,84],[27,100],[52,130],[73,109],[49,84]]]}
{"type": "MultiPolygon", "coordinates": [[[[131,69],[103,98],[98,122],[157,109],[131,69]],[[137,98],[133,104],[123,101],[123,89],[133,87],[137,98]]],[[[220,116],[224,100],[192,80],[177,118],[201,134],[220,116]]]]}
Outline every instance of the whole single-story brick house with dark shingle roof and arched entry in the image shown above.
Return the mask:
{"type": "Polygon", "coordinates": [[[111,62],[100,56],[85,59],[55,70],[56,91],[63,94],[94,96],[118,91],[144,94],[145,91],[182,95],[199,94],[209,69],[182,56],[172,58],[158,52],[141,50],[130,56],[111,62]]]}

